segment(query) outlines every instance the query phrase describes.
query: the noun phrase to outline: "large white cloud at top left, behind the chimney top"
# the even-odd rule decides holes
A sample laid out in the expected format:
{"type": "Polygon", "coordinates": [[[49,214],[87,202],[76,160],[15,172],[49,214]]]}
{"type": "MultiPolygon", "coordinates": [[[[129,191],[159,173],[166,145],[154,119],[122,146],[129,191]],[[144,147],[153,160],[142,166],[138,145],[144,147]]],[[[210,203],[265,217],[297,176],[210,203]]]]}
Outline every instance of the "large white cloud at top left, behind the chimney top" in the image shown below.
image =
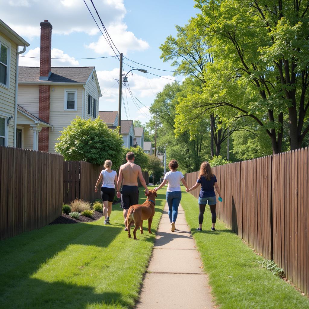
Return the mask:
{"type": "MultiPolygon", "coordinates": [[[[87,4],[93,15],[96,13],[90,1],[87,4]]],[[[104,24],[121,23],[126,10],[123,0],[95,1],[95,6],[104,24]]],[[[99,32],[83,1],[77,0],[0,0],[1,19],[20,36],[40,36],[40,22],[48,19],[53,33],[69,34],[99,32]]]]}

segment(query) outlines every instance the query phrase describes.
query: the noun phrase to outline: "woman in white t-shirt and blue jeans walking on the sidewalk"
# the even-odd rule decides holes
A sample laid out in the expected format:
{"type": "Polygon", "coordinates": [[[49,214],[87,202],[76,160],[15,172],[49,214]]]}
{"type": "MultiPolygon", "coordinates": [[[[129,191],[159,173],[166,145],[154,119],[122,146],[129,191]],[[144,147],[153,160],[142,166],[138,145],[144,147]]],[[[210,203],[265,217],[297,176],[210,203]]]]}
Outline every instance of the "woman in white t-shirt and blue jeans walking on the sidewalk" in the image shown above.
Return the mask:
{"type": "Polygon", "coordinates": [[[168,181],[167,190],[166,190],[166,201],[168,205],[168,216],[171,221],[171,231],[175,231],[175,222],[178,215],[178,206],[181,200],[181,188],[180,188],[180,181],[184,184],[186,189],[188,189],[188,185],[184,180],[184,175],[182,172],[176,171],[178,167],[178,162],[176,160],[171,160],[168,163],[168,167],[171,171],[167,172],[164,175],[164,180],[159,187],[155,188],[155,191],[158,191],[163,186],[165,186],[166,182],[168,181]]]}

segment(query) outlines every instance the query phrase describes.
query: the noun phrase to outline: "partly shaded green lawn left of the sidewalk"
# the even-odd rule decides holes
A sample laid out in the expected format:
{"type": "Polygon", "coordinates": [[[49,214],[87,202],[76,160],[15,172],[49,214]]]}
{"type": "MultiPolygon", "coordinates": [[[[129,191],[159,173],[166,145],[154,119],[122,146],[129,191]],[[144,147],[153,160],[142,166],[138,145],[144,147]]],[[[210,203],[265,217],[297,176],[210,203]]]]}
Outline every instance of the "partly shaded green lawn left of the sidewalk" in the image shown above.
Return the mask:
{"type": "MultiPolygon", "coordinates": [[[[164,204],[160,190],[153,232],[164,204]]],[[[110,220],[49,225],[0,242],[0,308],[132,308],[155,235],[145,221],[139,240],[129,239],[120,204],[110,220]]]]}

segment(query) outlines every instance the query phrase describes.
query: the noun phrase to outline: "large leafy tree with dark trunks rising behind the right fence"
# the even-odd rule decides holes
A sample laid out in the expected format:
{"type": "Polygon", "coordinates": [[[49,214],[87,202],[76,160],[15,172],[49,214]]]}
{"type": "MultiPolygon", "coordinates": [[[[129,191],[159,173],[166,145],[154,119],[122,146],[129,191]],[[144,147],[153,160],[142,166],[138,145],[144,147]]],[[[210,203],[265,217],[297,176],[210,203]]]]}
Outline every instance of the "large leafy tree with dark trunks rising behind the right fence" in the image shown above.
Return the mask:
{"type": "MultiPolygon", "coordinates": [[[[287,122],[290,148],[299,148],[309,131],[308,3],[282,0],[196,0],[196,3],[201,10],[197,28],[212,45],[217,69],[221,67],[216,75],[229,75],[221,85],[240,81],[246,88],[245,105],[222,100],[212,101],[213,106],[229,106],[243,114],[239,116],[255,119],[271,139],[273,153],[281,151],[287,122]]],[[[229,92],[226,87],[222,89],[229,92]]],[[[220,88],[216,90],[219,92],[220,88]]]]}

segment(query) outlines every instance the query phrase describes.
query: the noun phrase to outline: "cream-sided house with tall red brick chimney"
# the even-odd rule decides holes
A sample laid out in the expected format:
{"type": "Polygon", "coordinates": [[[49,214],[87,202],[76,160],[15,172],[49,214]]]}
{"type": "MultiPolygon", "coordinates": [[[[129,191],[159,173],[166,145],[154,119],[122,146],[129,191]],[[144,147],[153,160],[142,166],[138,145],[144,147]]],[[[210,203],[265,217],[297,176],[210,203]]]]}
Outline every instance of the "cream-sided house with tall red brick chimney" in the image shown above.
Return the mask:
{"type": "Polygon", "coordinates": [[[40,67],[19,67],[17,129],[21,148],[55,152],[76,116],[97,117],[102,94],[95,67],[51,67],[52,25],[40,26],[40,67]]]}

